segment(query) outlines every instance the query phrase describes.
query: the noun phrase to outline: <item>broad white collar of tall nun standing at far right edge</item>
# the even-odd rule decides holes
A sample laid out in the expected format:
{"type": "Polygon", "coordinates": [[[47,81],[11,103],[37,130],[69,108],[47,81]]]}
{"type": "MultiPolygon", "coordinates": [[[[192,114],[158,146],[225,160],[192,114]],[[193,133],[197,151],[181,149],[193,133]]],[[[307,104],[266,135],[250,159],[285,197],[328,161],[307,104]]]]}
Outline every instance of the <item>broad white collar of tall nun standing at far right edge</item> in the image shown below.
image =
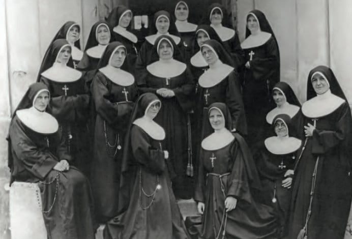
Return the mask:
{"type": "Polygon", "coordinates": [[[335,96],[328,89],[326,93],[306,101],[302,105],[302,113],[309,118],[322,117],[335,111],[344,102],[344,99],[335,96]]]}

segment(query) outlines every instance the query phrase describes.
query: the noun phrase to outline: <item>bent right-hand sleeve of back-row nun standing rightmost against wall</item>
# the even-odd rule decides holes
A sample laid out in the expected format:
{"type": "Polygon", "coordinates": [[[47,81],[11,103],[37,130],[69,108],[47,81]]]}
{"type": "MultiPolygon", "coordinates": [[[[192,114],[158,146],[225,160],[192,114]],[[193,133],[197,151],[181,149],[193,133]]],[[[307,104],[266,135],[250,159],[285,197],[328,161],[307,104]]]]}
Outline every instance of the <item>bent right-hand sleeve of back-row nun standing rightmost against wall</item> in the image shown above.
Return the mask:
{"type": "Polygon", "coordinates": [[[256,80],[270,80],[280,64],[279,49],[275,39],[271,37],[264,47],[266,56],[254,58],[250,62],[250,70],[256,80]]]}

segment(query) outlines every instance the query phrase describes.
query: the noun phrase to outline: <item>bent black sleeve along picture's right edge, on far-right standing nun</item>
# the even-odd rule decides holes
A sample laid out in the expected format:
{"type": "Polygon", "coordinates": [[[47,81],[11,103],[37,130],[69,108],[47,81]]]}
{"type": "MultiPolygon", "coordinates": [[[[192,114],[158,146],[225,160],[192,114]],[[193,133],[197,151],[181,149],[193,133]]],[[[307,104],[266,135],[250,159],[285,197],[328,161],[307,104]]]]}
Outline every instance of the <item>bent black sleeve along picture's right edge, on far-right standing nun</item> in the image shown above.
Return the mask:
{"type": "MultiPolygon", "coordinates": [[[[351,114],[348,109],[348,104],[345,102],[335,111],[337,121],[335,130],[319,130],[315,129],[313,131],[312,138],[312,153],[313,154],[324,154],[332,148],[336,147],[339,144],[342,144],[343,141],[349,141],[350,139],[350,127],[352,124],[351,114]]],[[[350,145],[345,145],[350,147],[350,145]]],[[[342,150],[342,148],[340,148],[342,150]]],[[[349,150],[349,148],[343,148],[343,150],[349,150]]]]}

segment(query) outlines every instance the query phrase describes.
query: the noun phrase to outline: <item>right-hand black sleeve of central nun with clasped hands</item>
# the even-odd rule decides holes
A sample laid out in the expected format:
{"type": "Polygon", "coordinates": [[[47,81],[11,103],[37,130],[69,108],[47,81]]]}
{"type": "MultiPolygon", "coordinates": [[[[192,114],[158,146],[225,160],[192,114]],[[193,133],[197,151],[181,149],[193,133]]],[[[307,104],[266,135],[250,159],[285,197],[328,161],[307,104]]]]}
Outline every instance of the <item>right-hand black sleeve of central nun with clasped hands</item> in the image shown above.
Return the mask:
{"type": "Polygon", "coordinates": [[[187,112],[194,106],[194,101],[192,100],[194,98],[194,77],[188,67],[183,75],[184,83],[172,89],[172,91],[175,93],[175,97],[182,109],[187,112]]]}

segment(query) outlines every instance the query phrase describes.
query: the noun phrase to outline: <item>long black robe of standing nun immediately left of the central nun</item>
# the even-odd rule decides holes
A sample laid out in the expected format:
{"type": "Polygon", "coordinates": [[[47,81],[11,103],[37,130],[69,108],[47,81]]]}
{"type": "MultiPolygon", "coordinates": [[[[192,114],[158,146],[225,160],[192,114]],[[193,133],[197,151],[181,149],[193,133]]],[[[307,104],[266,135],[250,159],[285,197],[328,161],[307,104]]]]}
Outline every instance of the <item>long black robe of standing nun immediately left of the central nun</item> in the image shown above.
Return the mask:
{"type": "Polygon", "coordinates": [[[129,117],[137,96],[137,87],[134,83],[129,86],[118,85],[100,71],[94,77],[92,98],[97,113],[94,124],[91,184],[96,216],[101,222],[111,219],[118,213],[122,149],[129,117]],[[128,92],[128,101],[124,91],[128,92]]]}

